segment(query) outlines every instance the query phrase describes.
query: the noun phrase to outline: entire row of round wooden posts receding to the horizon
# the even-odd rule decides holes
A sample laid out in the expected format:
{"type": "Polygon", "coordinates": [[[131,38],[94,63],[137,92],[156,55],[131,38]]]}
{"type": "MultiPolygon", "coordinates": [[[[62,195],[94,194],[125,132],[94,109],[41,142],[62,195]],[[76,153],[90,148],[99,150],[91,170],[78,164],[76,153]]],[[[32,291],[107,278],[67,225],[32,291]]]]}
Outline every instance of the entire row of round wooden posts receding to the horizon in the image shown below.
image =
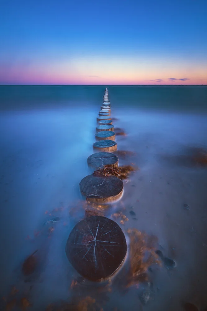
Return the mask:
{"type": "MultiPolygon", "coordinates": [[[[88,165],[100,172],[105,166],[117,167],[118,157],[110,101],[106,87],[97,117],[96,140],[88,165]]],[[[104,204],[119,199],[123,182],[116,176],[91,174],[80,182],[80,191],[89,202],[104,204]]],[[[119,225],[103,216],[89,216],[77,223],[68,237],[65,252],[80,275],[90,281],[103,281],[118,272],[127,254],[127,244],[119,225]]]]}

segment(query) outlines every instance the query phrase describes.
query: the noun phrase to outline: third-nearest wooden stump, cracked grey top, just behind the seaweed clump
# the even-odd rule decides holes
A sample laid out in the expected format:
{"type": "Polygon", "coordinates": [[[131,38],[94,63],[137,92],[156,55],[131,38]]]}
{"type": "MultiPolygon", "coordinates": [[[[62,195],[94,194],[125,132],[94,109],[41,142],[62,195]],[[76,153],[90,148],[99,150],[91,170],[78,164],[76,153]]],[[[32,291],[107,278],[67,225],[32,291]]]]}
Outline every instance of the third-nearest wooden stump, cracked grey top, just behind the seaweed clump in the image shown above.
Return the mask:
{"type": "Polygon", "coordinates": [[[88,157],[88,166],[92,166],[94,169],[103,166],[117,167],[118,166],[118,156],[110,152],[98,152],[94,153],[88,157]]]}

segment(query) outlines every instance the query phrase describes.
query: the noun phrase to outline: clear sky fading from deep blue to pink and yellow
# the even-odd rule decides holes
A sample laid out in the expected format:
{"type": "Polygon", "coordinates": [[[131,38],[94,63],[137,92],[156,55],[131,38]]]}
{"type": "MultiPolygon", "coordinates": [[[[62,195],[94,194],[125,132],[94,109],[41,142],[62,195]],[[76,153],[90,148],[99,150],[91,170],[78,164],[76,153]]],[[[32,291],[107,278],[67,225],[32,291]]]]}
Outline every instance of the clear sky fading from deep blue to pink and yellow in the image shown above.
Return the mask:
{"type": "Polygon", "coordinates": [[[5,0],[1,84],[207,84],[207,0],[5,0]]]}

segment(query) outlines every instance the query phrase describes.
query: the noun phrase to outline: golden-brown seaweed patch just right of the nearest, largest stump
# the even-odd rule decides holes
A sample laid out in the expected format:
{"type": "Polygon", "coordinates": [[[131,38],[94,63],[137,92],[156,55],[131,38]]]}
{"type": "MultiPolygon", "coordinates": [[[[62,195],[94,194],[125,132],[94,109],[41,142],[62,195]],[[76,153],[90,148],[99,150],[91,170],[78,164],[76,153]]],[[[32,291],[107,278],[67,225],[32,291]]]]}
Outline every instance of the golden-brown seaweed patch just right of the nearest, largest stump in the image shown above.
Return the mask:
{"type": "Polygon", "coordinates": [[[161,265],[158,255],[155,253],[155,236],[148,236],[137,229],[128,229],[130,238],[130,268],[127,274],[127,287],[138,285],[148,281],[147,269],[153,264],[161,265]]]}

